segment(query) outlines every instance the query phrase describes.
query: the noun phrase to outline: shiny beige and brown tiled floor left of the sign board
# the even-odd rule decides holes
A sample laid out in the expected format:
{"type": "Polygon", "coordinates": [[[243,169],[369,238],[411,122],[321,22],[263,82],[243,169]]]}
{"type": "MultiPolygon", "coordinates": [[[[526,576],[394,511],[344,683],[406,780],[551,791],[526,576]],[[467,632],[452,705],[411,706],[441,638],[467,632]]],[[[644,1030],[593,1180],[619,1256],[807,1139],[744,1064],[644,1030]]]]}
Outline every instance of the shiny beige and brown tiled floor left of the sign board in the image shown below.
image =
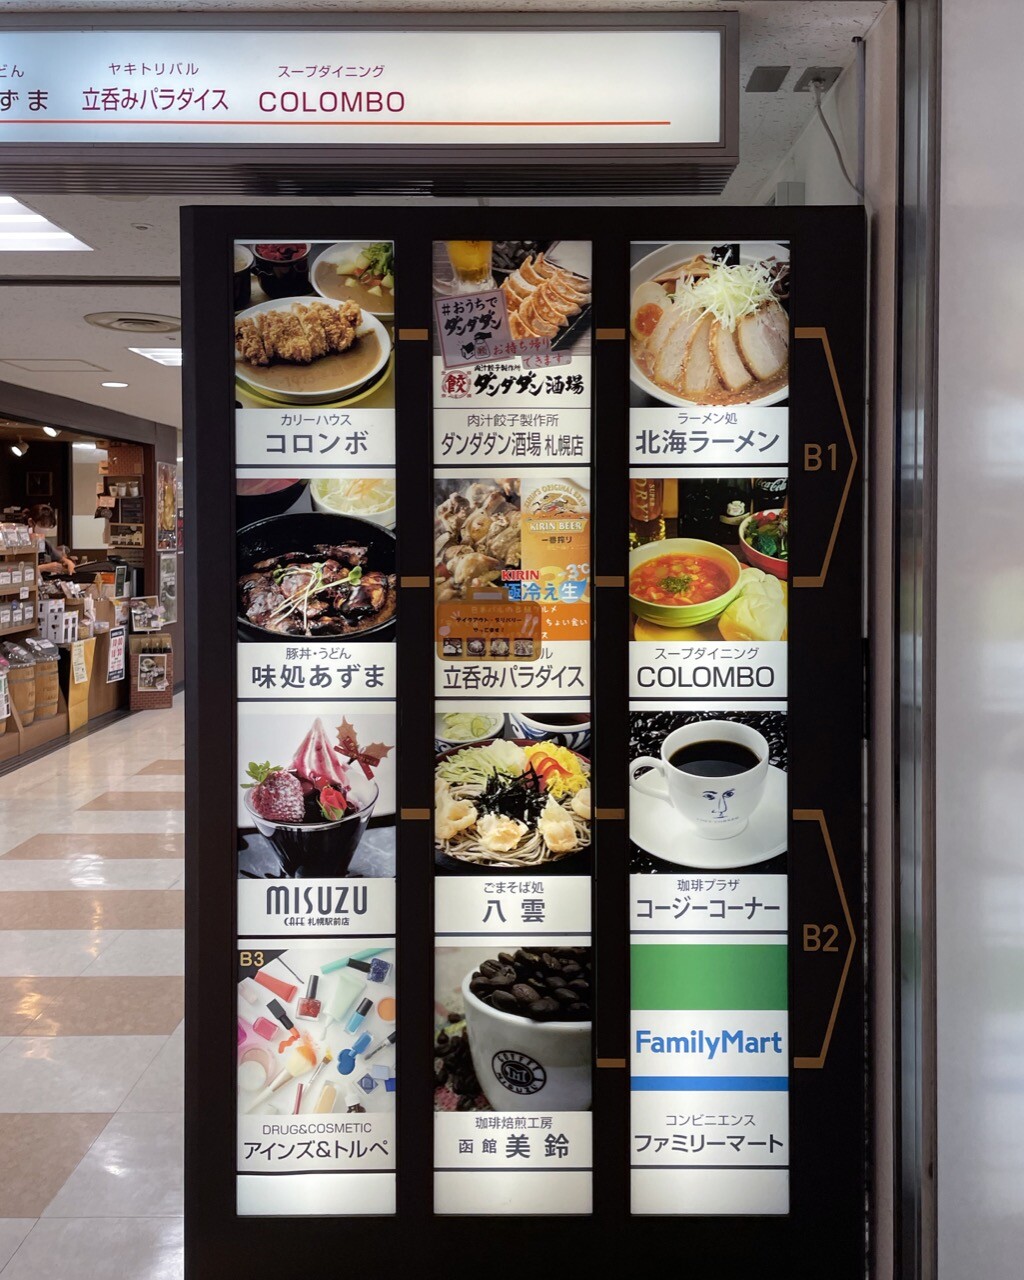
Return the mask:
{"type": "Polygon", "coordinates": [[[0,778],[0,1276],[182,1276],[184,724],[0,778]]]}

